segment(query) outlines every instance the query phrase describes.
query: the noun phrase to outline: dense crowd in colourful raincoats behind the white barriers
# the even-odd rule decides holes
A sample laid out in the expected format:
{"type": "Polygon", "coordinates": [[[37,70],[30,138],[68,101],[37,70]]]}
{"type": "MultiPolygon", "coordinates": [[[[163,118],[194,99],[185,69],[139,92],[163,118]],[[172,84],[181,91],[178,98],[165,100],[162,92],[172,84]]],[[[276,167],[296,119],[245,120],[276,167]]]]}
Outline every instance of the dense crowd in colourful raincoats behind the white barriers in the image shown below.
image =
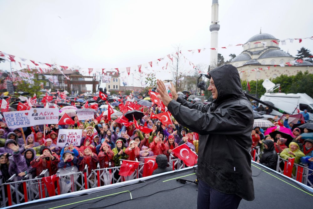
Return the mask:
{"type": "MultiPolygon", "coordinates": [[[[84,98],[86,99],[86,98],[84,98]]],[[[134,99],[134,98],[133,98],[134,99]]],[[[11,102],[15,102],[12,98],[11,102]]],[[[38,101],[40,103],[40,101],[38,101]]],[[[136,102],[136,99],[135,99],[136,102]]],[[[179,145],[186,144],[191,150],[198,152],[198,133],[188,130],[180,125],[174,118],[173,124],[164,125],[159,119],[150,118],[152,114],[160,113],[156,105],[140,107],[143,117],[138,119],[138,124],[150,128],[150,133],[143,133],[135,125],[125,126],[108,120],[106,116],[99,116],[106,109],[95,113],[95,119],[81,121],[73,117],[73,125],[47,124],[34,127],[9,129],[3,119],[0,121],[0,175],[6,182],[13,174],[21,180],[25,175],[38,176],[43,170],[48,169],[49,175],[56,174],[60,168],[76,166],[83,171],[88,165],[88,171],[100,168],[120,166],[120,159],[144,162],[144,157],[164,154],[169,158],[172,150],[179,145]],[[97,118],[97,119],[96,119],[97,118]],[[45,127],[44,127],[45,126],[45,127]],[[82,129],[80,146],[69,144],[58,147],[57,140],[60,129],[82,129]],[[24,134],[24,136],[23,136],[24,134]],[[24,141],[25,138],[26,140],[24,141]]],[[[119,111],[119,107],[115,107],[119,111]]],[[[292,128],[288,124],[288,115],[285,121],[275,122],[274,125],[292,128]]],[[[300,122],[299,122],[300,123],[300,122]]],[[[276,130],[276,129],[275,129],[276,130]]],[[[313,132],[304,129],[304,133],[313,132]]],[[[299,128],[294,128],[294,139],[285,145],[286,138],[281,134],[275,137],[264,135],[264,127],[254,127],[251,132],[252,148],[259,146],[261,154],[257,162],[276,170],[278,153],[283,159],[295,158],[295,163],[309,164],[313,169],[313,139],[301,139],[299,128]]],[[[61,140],[61,139],[59,139],[61,140]]],[[[164,157],[159,157],[164,164],[164,157]]],[[[161,166],[161,163],[160,163],[161,166]]],[[[162,169],[167,169],[162,165],[162,169]]],[[[313,182],[312,176],[309,180],[313,182]]]]}

